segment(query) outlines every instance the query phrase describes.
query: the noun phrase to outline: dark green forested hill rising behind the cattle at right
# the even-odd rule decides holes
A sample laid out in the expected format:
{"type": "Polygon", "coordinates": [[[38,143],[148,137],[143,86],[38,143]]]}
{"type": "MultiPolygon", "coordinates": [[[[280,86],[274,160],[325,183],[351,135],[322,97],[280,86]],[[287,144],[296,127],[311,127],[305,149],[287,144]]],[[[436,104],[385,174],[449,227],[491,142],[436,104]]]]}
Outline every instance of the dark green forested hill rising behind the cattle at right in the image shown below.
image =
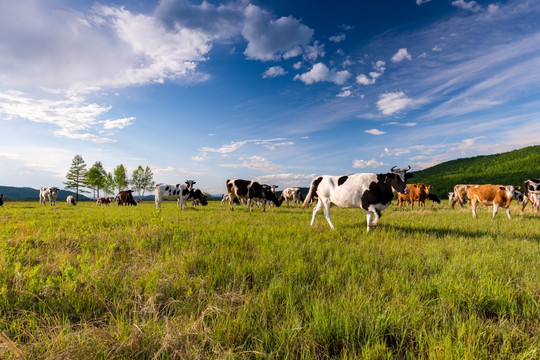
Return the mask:
{"type": "Polygon", "coordinates": [[[540,146],[451,160],[412,174],[409,183],[432,185],[440,198],[447,198],[456,184],[521,186],[524,180],[540,177],[540,146]]]}

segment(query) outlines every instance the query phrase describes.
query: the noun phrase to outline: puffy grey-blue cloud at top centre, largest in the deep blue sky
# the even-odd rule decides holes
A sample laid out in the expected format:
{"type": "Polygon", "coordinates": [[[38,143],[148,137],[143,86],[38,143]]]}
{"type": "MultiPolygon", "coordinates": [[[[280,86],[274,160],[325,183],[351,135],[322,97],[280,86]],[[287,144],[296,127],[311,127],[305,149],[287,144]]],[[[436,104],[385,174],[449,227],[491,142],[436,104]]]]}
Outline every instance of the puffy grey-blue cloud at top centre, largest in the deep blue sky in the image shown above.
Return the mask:
{"type": "Polygon", "coordinates": [[[298,56],[314,33],[292,16],[274,20],[271,13],[252,4],[244,15],[242,35],[248,41],[244,54],[249,59],[269,61],[298,56]]]}

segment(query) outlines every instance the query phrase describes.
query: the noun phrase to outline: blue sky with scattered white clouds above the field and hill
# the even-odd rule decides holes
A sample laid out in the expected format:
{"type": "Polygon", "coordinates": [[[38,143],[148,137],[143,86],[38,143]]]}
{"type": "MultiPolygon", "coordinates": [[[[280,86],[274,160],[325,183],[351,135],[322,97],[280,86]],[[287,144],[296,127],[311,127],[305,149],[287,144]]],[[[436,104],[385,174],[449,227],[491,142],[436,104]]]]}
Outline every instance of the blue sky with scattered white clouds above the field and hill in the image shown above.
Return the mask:
{"type": "Polygon", "coordinates": [[[0,185],[421,170],[540,144],[536,0],[0,1],[0,185]]]}

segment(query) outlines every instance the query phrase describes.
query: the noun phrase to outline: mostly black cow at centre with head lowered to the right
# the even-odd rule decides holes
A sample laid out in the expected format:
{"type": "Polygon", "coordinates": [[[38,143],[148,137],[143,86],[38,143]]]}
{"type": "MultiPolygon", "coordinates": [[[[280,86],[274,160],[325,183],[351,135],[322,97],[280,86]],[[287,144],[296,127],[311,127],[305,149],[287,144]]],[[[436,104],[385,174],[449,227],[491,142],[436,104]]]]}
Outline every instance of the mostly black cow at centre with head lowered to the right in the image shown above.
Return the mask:
{"type": "Polygon", "coordinates": [[[228,179],[227,192],[229,194],[229,208],[231,210],[234,210],[233,202],[236,198],[240,200],[247,200],[249,211],[253,210],[253,204],[256,201],[262,202],[263,211],[266,211],[267,201],[273,202],[277,207],[281,205],[270,185],[261,185],[256,181],[228,179]]]}

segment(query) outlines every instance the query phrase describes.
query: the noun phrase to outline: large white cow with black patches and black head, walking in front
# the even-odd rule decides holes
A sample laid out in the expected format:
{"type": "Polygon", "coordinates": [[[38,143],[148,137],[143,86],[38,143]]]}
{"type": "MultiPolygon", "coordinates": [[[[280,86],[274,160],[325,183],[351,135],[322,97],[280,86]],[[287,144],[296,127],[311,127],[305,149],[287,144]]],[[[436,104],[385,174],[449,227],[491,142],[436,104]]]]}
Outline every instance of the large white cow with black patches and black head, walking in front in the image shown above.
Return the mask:
{"type": "Polygon", "coordinates": [[[372,226],[379,225],[381,211],[390,206],[394,192],[402,194],[409,192],[406,179],[411,175],[406,172],[410,169],[410,166],[406,169],[396,169],[394,166],[390,170],[391,173],[387,174],[318,176],[311,181],[309,193],[302,207],[305,208],[316,194],[319,200],[313,208],[311,226],[315,223],[317,214],[324,209],[324,217],[332,229],[335,227],[330,220],[331,204],[342,208],[362,208],[368,212],[367,231],[369,231],[372,226]]]}

